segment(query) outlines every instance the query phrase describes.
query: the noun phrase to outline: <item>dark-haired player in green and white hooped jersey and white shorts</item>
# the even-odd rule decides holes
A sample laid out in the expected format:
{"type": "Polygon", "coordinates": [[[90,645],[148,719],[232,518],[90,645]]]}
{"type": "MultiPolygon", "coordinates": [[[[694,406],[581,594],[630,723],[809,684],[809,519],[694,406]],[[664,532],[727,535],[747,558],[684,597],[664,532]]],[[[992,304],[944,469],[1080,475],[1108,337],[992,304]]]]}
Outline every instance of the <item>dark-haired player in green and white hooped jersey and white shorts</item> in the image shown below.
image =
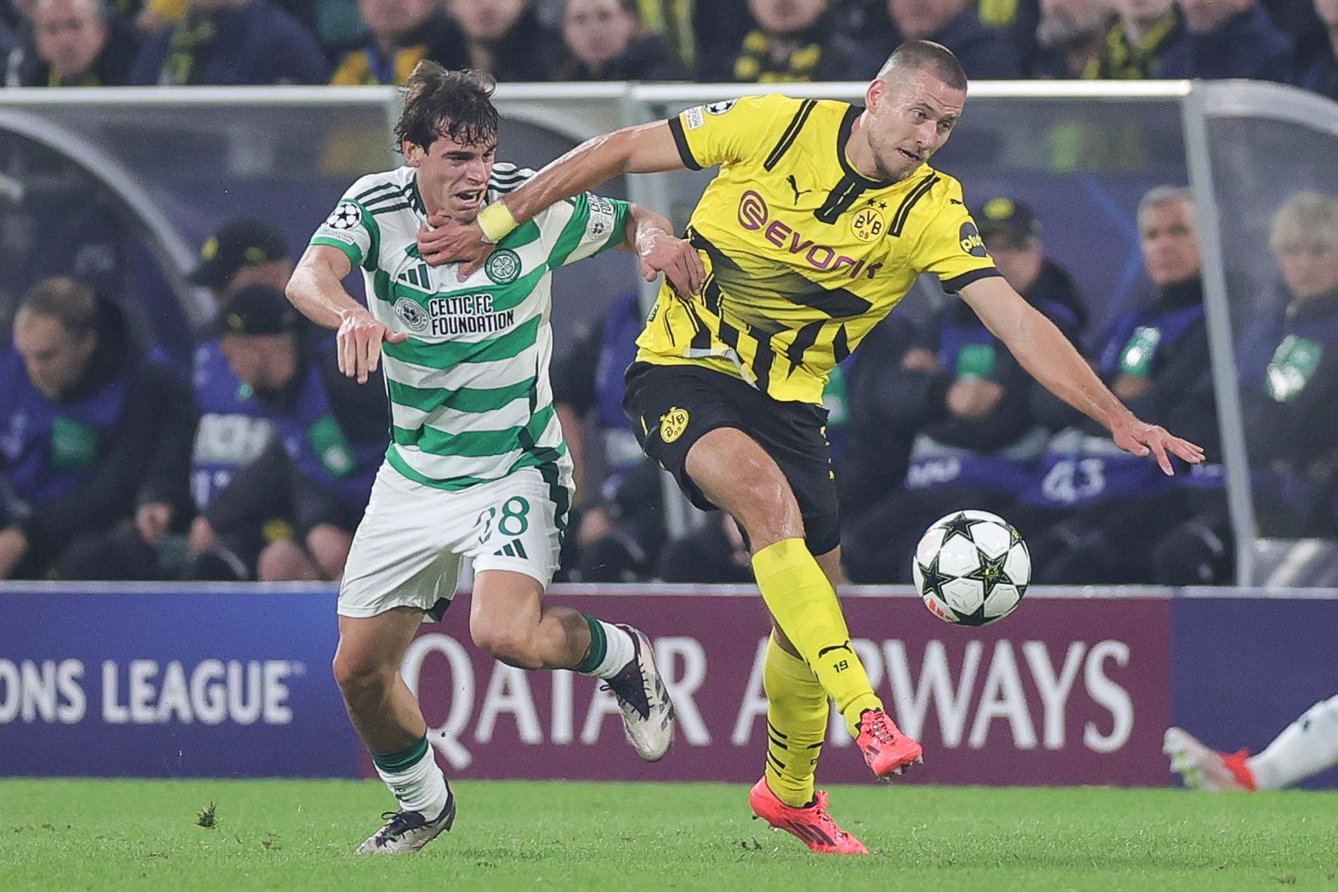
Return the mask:
{"type": "Polygon", "coordinates": [[[571,496],[571,461],[549,386],[551,271],[630,243],[641,271],[700,288],[696,253],[669,222],[581,195],[512,233],[463,281],[429,267],[416,238],[431,213],[471,221],[527,177],[494,166],[492,84],[423,62],[395,128],[408,166],[357,181],[316,231],[288,285],[308,317],[337,328],[340,368],[367,380],[384,353],[392,441],[353,536],[339,595],[334,678],[399,810],[359,852],[420,849],[455,818],[455,797],[399,675],[425,615],[440,617],[474,560],[470,634],[522,669],[605,678],[642,758],[664,756],[673,706],[649,639],[545,604],[571,496]],[[369,309],[340,285],[360,266],[369,309]]]}

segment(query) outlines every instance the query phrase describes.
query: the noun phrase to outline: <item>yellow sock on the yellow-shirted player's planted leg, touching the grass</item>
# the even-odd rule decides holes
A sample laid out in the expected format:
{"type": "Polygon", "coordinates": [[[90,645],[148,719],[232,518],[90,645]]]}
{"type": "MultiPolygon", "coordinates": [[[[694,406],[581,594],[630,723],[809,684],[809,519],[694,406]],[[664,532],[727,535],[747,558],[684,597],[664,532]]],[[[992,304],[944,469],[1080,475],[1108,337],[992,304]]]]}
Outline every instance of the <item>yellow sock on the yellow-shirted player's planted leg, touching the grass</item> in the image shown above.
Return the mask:
{"type": "Polygon", "coordinates": [[[761,683],[767,690],[767,786],[785,805],[814,798],[814,770],[827,737],[827,691],[801,659],[767,641],[761,683]]]}

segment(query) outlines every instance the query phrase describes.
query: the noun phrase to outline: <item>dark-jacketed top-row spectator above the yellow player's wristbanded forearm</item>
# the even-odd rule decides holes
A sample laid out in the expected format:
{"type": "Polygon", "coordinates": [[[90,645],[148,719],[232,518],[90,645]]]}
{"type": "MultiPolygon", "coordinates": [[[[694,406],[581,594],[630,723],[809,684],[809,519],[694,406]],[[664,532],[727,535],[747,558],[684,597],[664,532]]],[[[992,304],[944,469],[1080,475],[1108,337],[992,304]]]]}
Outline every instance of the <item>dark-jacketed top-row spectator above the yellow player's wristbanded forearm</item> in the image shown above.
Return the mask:
{"type": "Polygon", "coordinates": [[[669,41],[648,32],[636,0],[566,0],[555,80],[686,80],[669,41]]]}

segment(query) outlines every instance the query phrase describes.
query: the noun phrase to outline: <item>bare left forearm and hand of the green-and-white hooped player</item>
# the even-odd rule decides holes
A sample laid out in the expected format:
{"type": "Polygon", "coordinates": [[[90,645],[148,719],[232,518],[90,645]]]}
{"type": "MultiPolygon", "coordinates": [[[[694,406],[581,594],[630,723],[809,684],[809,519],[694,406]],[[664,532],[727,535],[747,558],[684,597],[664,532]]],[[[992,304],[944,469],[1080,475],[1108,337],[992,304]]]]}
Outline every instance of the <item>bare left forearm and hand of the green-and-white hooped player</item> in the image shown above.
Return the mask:
{"type": "Polygon", "coordinates": [[[392,332],[367,312],[367,308],[344,290],[344,277],[353,265],[348,255],[329,245],[308,245],[297,261],[284,293],[302,316],[317,325],[339,329],[339,370],[367,384],[367,376],[381,360],[381,341],[400,344],[407,332],[392,332]]]}

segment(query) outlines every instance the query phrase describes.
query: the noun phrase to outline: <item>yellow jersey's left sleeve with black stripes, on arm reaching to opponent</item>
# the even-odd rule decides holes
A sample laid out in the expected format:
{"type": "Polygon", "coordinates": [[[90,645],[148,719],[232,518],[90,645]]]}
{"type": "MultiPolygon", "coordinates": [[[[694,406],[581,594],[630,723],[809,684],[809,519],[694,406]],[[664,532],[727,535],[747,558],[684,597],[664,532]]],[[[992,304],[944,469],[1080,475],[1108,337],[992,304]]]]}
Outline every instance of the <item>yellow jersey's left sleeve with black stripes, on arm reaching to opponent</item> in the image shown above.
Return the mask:
{"type": "Polygon", "coordinates": [[[682,163],[689,170],[702,170],[771,151],[781,136],[780,128],[792,126],[796,111],[812,104],[780,94],[713,102],[670,118],[669,130],[682,163]]]}

